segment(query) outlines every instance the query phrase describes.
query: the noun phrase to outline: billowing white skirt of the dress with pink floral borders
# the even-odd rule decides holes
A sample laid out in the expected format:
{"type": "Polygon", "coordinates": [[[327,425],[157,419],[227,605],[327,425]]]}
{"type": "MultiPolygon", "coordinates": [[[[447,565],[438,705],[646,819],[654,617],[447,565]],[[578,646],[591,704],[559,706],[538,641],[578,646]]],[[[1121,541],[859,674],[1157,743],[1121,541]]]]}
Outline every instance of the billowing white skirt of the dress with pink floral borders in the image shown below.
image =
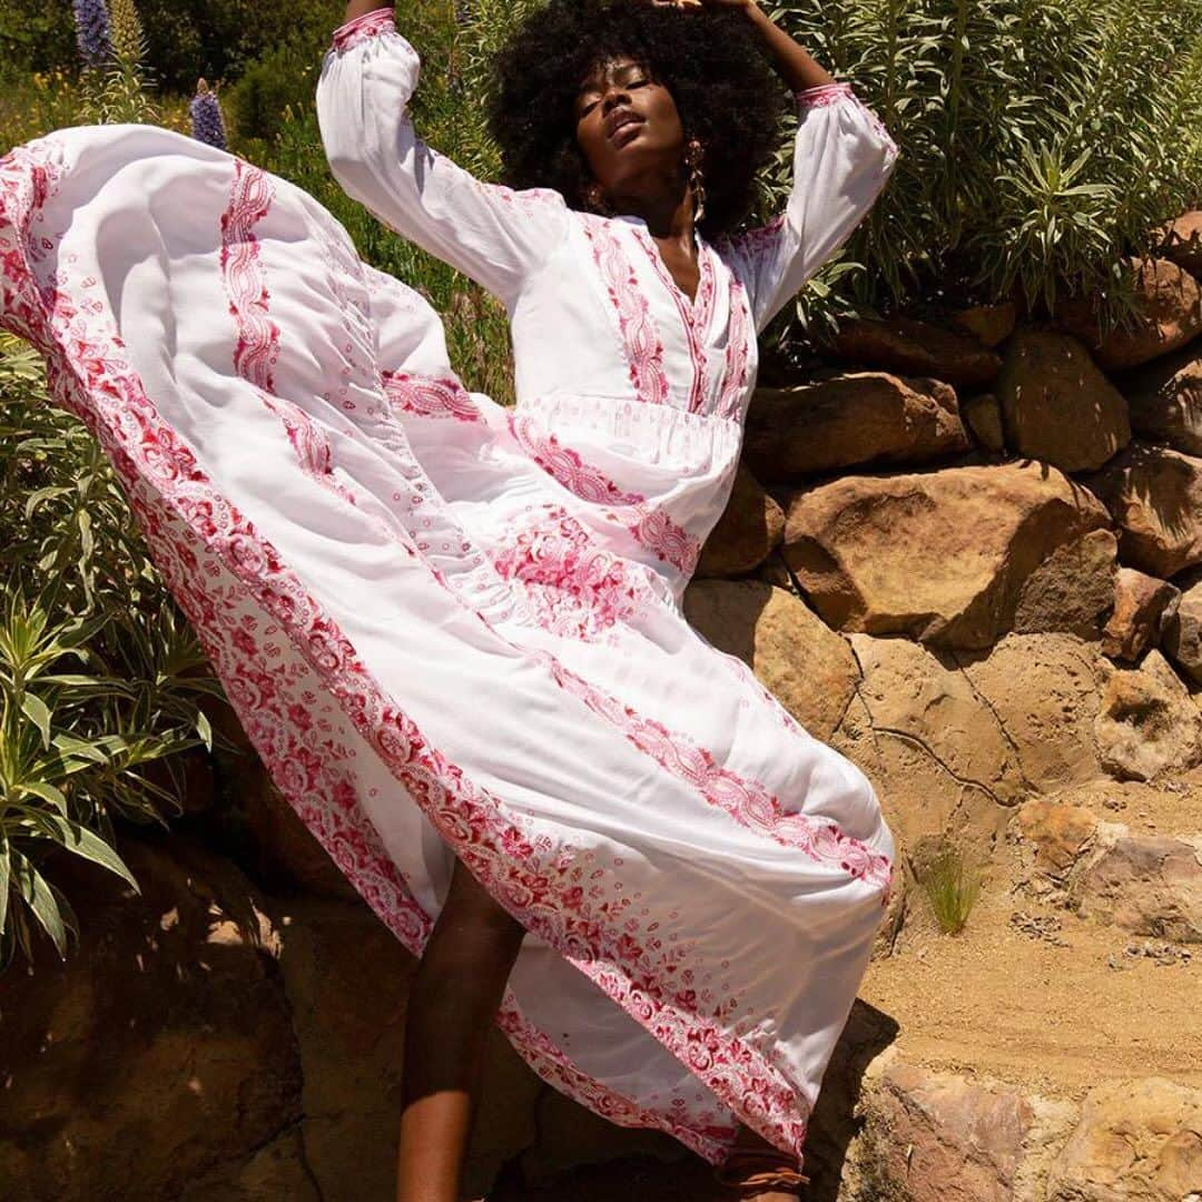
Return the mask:
{"type": "Polygon", "coordinates": [[[498,1023],[540,1077],[714,1164],[738,1120],[801,1155],[891,881],[863,773],[590,540],[287,182],[58,131],[0,159],[0,288],[397,938],[421,954],[459,857],[528,932],[498,1023]]]}

